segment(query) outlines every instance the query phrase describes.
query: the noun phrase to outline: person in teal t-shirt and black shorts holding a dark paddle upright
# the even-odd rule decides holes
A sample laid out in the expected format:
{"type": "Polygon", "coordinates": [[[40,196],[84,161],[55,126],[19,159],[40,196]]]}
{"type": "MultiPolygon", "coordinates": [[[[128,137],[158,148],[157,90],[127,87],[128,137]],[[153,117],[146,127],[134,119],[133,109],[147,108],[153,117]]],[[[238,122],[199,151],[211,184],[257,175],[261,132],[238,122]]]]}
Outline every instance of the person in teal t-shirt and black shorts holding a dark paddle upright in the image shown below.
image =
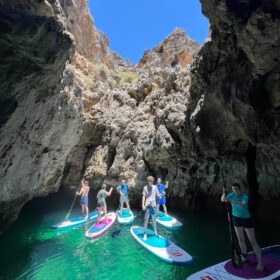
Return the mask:
{"type": "Polygon", "coordinates": [[[232,221],[238,237],[238,243],[242,251],[243,262],[247,261],[247,247],[244,235],[245,231],[258,260],[257,270],[262,271],[264,267],[262,263],[261,250],[255,237],[254,221],[248,211],[248,195],[242,194],[240,185],[235,183],[232,185],[232,192],[230,194],[226,195],[225,189],[223,190],[221,201],[231,203],[232,221]]]}

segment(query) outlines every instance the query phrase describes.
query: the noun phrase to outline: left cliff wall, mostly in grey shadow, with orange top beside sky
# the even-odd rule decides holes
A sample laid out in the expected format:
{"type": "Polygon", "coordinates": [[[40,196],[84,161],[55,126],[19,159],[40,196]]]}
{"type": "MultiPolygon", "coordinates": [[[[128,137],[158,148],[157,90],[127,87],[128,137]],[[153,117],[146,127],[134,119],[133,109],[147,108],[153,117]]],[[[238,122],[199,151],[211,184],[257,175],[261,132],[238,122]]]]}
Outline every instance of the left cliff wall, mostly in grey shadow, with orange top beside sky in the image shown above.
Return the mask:
{"type": "Polygon", "coordinates": [[[27,201],[61,185],[65,159],[82,134],[78,66],[113,63],[86,1],[0,1],[0,27],[2,227],[27,201]],[[79,25],[71,25],[71,15],[79,25]]]}

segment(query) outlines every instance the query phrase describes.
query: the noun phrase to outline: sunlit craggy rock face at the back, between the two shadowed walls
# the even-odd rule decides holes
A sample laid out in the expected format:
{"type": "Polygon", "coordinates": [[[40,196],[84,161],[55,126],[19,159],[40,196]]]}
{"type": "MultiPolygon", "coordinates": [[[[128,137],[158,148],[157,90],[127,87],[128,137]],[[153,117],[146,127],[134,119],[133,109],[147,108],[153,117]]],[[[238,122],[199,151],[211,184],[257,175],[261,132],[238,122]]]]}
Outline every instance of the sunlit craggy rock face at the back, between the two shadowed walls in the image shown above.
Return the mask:
{"type": "Polygon", "coordinates": [[[65,186],[82,176],[93,188],[128,178],[135,202],[153,174],[174,179],[170,194],[184,193],[177,150],[190,98],[190,65],[198,50],[176,29],[134,66],[119,61],[114,70],[95,69],[96,80],[83,93],[83,135],[67,159],[65,186]]]}

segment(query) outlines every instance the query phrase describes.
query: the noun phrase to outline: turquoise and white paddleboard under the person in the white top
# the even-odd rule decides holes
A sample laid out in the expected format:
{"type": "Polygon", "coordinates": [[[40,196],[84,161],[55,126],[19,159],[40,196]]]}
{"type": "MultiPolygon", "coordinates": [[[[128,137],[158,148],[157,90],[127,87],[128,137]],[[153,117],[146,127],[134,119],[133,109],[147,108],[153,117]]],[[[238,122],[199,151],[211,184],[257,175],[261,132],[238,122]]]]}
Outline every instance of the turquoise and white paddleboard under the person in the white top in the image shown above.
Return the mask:
{"type": "Polygon", "coordinates": [[[178,247],[172,241],[156,236],[153,231],[147,229],[147,239],[144,240],[144,228],[133,226],[130,228],[132,236],[143,247],[165,262],[186,265],[192,262],[192,256],[178,247]]]}

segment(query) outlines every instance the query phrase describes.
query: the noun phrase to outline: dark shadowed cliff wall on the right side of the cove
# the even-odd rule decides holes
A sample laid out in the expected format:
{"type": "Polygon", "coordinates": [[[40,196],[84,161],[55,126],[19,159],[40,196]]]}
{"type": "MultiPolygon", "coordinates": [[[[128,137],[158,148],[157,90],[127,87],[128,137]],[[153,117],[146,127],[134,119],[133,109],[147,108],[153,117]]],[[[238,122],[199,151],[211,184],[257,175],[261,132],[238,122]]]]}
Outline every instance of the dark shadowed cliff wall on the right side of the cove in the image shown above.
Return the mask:
{"type": "MultiPolygon", "coordinates": [[[[246,186],[253,208],[259,201],[260,215],[279,219],[279,4],[201,3],[211,38],[192,67],[186,137],[192,135],[200,164],[214,162],[210,174],[217,184],[222,181],[219,164],[227,185],[246,186]]],[[[206,173],[202,170],[202,178],[206,173]]]]}

